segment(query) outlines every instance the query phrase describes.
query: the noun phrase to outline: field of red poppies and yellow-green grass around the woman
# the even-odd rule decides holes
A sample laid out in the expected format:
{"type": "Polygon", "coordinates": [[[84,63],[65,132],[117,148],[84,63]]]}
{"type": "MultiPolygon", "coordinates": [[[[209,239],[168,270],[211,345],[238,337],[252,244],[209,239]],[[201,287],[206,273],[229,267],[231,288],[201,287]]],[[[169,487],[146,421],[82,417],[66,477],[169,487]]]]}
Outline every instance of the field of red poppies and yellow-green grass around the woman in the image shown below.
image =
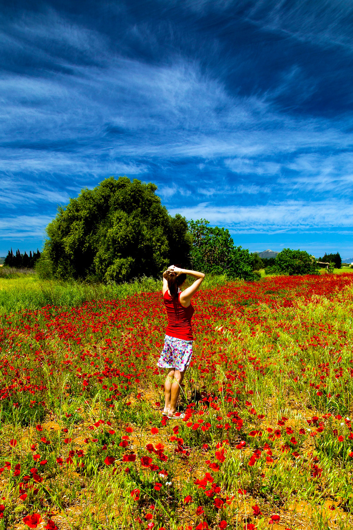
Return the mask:
{"type": "Polygon", "coordinates": [[[352,525],[353,275],[193,305],[173,420],[160,292],[0,317],[0,529],[352,525]]]}

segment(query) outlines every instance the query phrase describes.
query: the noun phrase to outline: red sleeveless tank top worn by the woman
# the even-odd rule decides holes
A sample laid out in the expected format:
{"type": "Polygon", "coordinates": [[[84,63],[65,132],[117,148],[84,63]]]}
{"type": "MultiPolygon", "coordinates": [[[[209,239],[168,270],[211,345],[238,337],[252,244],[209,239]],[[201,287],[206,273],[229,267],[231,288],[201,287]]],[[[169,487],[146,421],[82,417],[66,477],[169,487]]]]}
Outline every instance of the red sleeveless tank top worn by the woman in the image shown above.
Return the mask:
{"type": "Polygon", "coordinates": [[[163,301],[168,317],[166,335],[177,339],[194,340],[191,319],[195,310],[192,305],[183,307],[180,304],[180,294],[178,294],[178,298],[172,298],[168,291],[164,293],[163,301]]]}

